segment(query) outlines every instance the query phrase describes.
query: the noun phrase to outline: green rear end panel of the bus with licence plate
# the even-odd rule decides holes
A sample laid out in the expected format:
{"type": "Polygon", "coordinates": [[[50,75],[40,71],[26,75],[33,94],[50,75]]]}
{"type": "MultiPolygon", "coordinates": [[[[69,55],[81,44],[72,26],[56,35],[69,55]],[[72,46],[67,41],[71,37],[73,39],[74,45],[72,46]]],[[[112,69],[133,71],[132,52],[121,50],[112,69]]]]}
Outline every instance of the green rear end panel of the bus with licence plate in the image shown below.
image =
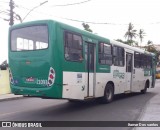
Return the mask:
{"type": "MultiPolygon", "coordinates": [[[[46,24],[48,26],[49,47],[36,51],[9,51],[9,66],[14,79],[14,84],[11,84],[12,92],[15,94],[62,98],[62,72],[61,60],[59,60],[62,57],[57,55],[59,50],[55,49],[59,48],[57,40],[59,37],[56,37],[57,28],[55,23],[51,21],[42,21],[37,24],[46,24]],[[50,68],[53,68],[55,73],[52,86],[48,86],[50,68]]],[[[26,24],[25,27],[37,24],[30,23],[26,24]]],[[[16,27],[13,29],[16,29],[16,27]]]]}

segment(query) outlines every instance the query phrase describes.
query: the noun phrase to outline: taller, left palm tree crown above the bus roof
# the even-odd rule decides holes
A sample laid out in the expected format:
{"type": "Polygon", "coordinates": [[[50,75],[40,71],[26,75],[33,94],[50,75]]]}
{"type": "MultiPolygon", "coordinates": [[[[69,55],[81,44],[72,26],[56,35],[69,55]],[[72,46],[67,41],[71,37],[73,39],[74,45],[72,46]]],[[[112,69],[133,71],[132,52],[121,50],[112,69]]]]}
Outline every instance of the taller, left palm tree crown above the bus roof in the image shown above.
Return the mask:
{"type": "Polygon", "coordinates": [[[133,24],[129,23],[128,30],[124,35],[124,37],[127,38],[127,41],[132,41],[133,38],[136,38],[137,36],[136,31],[137,30],[134,29],[133,24]]]}

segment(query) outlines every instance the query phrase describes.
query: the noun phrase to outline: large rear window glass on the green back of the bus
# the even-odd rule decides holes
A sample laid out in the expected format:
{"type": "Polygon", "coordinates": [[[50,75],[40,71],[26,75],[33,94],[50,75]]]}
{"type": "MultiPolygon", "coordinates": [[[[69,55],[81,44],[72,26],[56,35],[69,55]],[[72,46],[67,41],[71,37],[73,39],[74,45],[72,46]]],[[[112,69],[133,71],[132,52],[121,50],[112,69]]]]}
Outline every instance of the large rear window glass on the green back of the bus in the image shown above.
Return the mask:
{"type": "Polygon", "coordinates": [[[11,31],[11,50],[29,51],[48,48],[47,25],[36,25],[11,31]]]}

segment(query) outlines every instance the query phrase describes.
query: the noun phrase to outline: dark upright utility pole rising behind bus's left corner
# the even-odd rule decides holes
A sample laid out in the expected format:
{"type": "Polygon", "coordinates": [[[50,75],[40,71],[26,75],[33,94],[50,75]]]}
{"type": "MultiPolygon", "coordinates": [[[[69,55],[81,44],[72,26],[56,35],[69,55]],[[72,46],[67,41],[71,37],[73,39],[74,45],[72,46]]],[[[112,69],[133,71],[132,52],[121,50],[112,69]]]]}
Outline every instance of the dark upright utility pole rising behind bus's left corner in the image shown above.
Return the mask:
{"type": "Polygon", "coordinates": [[[12,26],[14,24],[14,1],[10,0],[9,2],[9,6],[10,6],[10,20],[9,20],[9,25],[12,26]]]}

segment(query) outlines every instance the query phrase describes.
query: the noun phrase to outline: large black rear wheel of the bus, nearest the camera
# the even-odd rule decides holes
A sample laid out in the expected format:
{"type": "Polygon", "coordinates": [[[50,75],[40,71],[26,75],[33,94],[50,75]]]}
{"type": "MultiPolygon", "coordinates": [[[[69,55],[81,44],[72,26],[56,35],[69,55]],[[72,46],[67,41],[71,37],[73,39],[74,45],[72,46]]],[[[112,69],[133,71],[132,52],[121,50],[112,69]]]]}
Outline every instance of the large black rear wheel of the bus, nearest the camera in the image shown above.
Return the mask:
{"type": "Polygon", "coordinates": [[[104,90],[104,96],[102,97],[102,103],[110,103],[112,102],[114,97],[114,88],[112,84],[107,84],[104,90]]]}

